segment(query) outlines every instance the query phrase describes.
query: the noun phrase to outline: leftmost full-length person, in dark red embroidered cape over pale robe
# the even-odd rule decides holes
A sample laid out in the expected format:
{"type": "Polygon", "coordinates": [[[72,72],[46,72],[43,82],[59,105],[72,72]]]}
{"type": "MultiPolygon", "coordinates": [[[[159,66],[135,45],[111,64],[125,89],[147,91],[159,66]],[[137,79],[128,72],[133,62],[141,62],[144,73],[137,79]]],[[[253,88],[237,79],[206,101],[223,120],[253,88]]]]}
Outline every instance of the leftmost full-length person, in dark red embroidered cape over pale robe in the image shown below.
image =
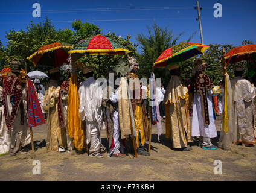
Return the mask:
{"type": "Polygon", "coordinates": [[[30,130],[27,123],[27,89],[25,77],[21,72],[21,62],[13,59],[11,72],[3,83],[3,103],[5,122],[10,133],[10,156],[24,154],[25,146],[30,144],[30,130]]]}

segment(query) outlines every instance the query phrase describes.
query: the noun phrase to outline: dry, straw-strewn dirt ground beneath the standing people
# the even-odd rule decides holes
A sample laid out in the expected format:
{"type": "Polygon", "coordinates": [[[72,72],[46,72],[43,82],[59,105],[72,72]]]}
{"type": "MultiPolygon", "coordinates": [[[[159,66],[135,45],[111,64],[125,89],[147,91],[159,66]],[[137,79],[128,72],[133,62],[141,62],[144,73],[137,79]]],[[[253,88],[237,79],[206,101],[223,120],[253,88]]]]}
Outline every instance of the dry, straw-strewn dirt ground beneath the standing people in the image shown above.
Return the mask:
{"type": "MultiPolygon", "coordinates": [[[[203,150],[199,142],[190,145],[191,151],[171,148],[170,139],[165,138],[165,122],[160,143],[157,130],[152,130],[150,156],[127,154],[123,158],[92,158],[87,154],[57,153],[46,151],[46,125],[33,128],[36,151],[24,155],[0,156],[0,180],[256,180],[256,147],[232,145],[231,151],[220,148],[203,150]],[[41,174],[33,174],[33,161],[41,163],[41,174]],[[214,160],[221,160],[222,174],[214,174],[214,160]]],[[[216,120],[220,135],[220,118],[216,120]]],[[[106,131],[101,131],[103,145],[106,131]]],[[[217,145],[218,138],[212,139],[217,145]]]]}

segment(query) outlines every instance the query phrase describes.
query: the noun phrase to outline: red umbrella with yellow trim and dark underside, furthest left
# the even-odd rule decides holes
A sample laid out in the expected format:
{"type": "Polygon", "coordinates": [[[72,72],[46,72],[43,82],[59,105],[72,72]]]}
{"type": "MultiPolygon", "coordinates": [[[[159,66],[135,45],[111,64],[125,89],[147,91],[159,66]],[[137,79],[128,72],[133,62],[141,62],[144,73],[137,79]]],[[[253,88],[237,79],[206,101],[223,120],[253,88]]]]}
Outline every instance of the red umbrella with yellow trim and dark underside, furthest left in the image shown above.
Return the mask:
{"type": "Polygon", "coordinates": [[[68,63],[68,54],[63,49],[71,49],[73,46],[65,46],[59,42],[51,43],[42,46],[37,52],[27,57],[34,66],[48,65],[48,66],[61,66],[64,62],[68,63]]]}

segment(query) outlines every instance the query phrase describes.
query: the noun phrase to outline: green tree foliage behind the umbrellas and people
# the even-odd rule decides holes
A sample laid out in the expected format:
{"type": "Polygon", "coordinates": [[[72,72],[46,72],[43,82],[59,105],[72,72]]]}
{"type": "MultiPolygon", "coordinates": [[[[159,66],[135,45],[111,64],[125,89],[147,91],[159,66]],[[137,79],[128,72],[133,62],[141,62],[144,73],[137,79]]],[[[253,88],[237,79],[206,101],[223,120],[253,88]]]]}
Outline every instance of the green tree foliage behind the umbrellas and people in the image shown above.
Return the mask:
{"type": "MultiPolygon", "coordinates": [[[[101,34],[101,28],[97,25],[89,24],[88,22],[82,23],[80,20],[72,22],[71,27],[74,29],[65,28],[64,30],[56,30],[50,19],[46,17],[45,21],[39,22],[39,24],[28,25],[25,30],[14,30],[11,29],[6,33],[8,39],[7,45],[4,47],[0,41],[0,67],[1,69],[8,66],[11,60],[16,57],[22,65],[27,64],[27,71],[33,71],[39,69],[40,71],[48,73],[48,68],[45,67],[34,67],[33,63],[28,61],[26,58],[40,49],[43,45],[47,45],[54,42],[72,44],[79,42],[80,40],[101,34]]],[[[195,31],[191,34],[186,42],[190,42],[193,36],[197,33],[195,31]]],[[[117,36],[115,33],[105,34],[106,37],[118,40],[124,48],[130,51],[129,54],[125,55],[92,55],[81,57],[77,63],[80,65],[91,65],[94,67],[94,71],[97,72],[96,77],[106,77],[106,74],[113,70],[115,66],[118,66],[121,60],[126,61],[130,55],[136,57],[139,62],[138,75],[140,77],[149,78],[151,72],[155,72],[156,77],[161,77],[161,82],[164,86],[167,86],[170,81],[170,74],[167,68],[153,69],[153,63],[159,57],[159,55],[165,51],[165,49],[171,46],[178,45],[181,43],[181,37],[184,33],[173,34],[172,30],[168,28],[160,28],[158,25],[147,27],[146,34],[138,34],[136,40],[139,43],[139,49],[141,54],[136,52],[137,44],[130,42],[130,35],[126,37],[117,36]]],[[[243,40],[242,45],[253,43],[250,40],[243,40]]],[[[207,65],[206,74],[213,80],[214,84],[219,84],[222,80],[222,47],[225,48],[225,52],[234,48],[232,45],[209,45],[204,54],[200,55],[204,59],[207,65]]],[[[187,80],[188,77],[192,76],[193,62],[195,57],[185,60],[180,63],[181,77],[183,80],[187,80]]],[[[239,65],[248,67],[249,63],[246,61],[240,62],[239,65]]],[[[254,64],[251,66],[255,66],[254,64]]],[[[250,69],[251,70],[251,67],[250,69]]],[[[227,71],[232,77],[232,65],[228,65],[227,71]]],[[[245,76],[248,75],[248,71],[245,71],[245,76]]],[[[78,72],[78,78],[80,81],[84,80],[81,71],[78,72]]]]}

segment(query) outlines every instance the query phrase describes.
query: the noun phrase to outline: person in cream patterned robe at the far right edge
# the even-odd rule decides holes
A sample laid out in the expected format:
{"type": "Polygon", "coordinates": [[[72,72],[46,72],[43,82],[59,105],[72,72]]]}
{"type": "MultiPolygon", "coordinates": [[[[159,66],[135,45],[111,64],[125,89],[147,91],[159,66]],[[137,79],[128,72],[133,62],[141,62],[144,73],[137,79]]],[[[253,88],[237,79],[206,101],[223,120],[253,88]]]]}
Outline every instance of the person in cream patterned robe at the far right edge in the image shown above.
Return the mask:
{"type": "Polygon", "coordinates": [[[242,78],[243,68],[235,66],[235,77],[231,80],[234,103],[234,144],[243,146],[256,144],[254,136],[254,103],[256,88],[245,78],[242,78]]]}

